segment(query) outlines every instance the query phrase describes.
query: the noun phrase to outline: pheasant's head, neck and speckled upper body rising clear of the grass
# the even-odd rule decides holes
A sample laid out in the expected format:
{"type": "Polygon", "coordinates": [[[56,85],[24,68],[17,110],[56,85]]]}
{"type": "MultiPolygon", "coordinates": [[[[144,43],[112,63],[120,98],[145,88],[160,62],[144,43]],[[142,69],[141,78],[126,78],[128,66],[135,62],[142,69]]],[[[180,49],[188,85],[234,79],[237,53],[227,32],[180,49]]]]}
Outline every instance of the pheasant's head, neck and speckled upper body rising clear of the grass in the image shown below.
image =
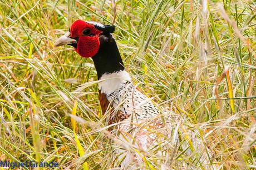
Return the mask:
{"type": "Polygon", "coordinates": [[[103,113],[113,108],[109,124],[121,122],[122,131],[128,131],[130,123],[139,124],[159,116],[159,109],[132,84],[129,73],[111,33],[115,27],[97,22],[77,20],[70,30],[58,38],[55,46],[68,44],[81,57],[91,57],[97,71],[99,99],[103,113]],[[110,106],[111,105],[111,106],[110,106]]]}

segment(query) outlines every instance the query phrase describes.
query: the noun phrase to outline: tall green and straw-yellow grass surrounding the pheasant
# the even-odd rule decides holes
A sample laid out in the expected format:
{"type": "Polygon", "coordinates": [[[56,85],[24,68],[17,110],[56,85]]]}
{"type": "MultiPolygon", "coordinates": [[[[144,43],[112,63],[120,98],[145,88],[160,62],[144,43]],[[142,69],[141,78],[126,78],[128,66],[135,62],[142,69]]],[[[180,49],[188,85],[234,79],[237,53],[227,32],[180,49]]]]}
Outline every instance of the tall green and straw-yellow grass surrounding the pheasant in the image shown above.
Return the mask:
{"type": "Polygon", "coordinates": [[[53,47],[75,19],[112,23],[112,7],[133,81],[161,110],[184,118],[173,128],[181,143],[165,137],[169,145],[157,144],[150,155],[137,151],[144,155],[138,168],[255,169],[252,0],[0,0],[0,161],[113,168],[116,144],[106,131],[92,60],[53,47]],[[204,148],[194,146],[191,134],[204,148]],[[204,164],[207,151],[211,161],[204,164]]]}

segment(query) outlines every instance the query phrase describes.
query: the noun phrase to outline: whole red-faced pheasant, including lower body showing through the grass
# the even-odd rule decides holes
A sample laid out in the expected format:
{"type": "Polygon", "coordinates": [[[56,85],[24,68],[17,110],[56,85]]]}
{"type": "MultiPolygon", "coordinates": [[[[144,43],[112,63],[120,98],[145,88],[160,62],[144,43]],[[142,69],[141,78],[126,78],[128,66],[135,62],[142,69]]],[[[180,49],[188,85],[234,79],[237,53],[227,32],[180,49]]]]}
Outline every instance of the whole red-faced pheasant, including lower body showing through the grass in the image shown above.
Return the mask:
{"type": "MultiPolygon", "coordinates": [[[[107,122],[119,123],[117,130],[121,133],[121,141],[125,141],[124,147],[135,143],[132,147],[148,154],[149,147],[156,143],[157,138],[151,131],[163,128],[163,117],[151,98],[147,98],[134,86],[129,73],[125,71],[116,41],[111,34],[114,31],[115,27],[112,25],[77,20],[65,35],[57,39],[55,46],[68,44],[81,57],[92,58],[99,79],[100,106],[102,112],[108,114],[107,122]]],[[[173,119],[170,115],[168,118],[173,119]]],[[[163,131],[167,137],[173,137],[172,132],[166,129],[163,131]]],[[[176,141],[177,135],[174,138],[173,141],[176,141]]],[[[122,168],[132,163],[138,166],[143,162],[136,152],[118,152],[122,156],[122,168]]]]}

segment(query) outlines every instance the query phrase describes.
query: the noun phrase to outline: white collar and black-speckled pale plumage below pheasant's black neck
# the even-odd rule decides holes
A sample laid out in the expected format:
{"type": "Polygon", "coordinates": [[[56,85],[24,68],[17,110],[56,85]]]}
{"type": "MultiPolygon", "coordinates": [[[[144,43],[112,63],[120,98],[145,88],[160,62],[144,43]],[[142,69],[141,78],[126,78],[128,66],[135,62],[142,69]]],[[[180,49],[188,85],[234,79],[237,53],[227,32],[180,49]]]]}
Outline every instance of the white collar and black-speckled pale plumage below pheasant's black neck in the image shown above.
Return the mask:
{"type": "Polygon", "coordinates": [[[151,99],[138,91],[126,71],[104,74],[100,80],[101,93],[105,93],[107,100],[114,107],[114,112],[119,112],[121,121],[130,119],[140,123],[159,114],[159,109],[151,99]]]}

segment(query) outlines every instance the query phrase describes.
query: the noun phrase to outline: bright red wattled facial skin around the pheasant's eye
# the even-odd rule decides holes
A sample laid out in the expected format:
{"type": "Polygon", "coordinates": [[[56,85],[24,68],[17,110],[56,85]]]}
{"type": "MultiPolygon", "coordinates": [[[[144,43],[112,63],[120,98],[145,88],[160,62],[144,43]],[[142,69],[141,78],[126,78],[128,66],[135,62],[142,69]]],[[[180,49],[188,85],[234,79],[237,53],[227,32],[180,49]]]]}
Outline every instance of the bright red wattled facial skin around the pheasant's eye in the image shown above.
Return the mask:
{"type": "Polygon", "coordinates": [[[102,33],[96,29],[93,24],[82,20],[73,22],[70,27],[71,38],[78,38],[75,51],[82,57],[93,57],[97,54],[100,48],[99,35],[102,33]],[[85,29],[90,29],[90,35],[83,34],[85,29]]]}

